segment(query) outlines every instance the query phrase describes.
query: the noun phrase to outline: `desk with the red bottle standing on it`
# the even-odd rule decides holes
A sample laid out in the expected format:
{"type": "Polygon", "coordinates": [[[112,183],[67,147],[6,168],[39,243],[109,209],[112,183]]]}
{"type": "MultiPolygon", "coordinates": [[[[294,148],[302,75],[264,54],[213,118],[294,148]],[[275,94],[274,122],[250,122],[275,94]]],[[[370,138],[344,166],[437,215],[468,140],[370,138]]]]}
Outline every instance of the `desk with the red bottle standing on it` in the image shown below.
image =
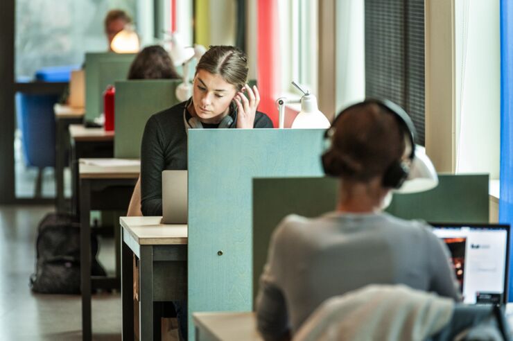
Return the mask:
{"type": "Polygon", "coordinates": [[[69,125],[69,136],[71,138],[71,211],[74,216],[80,216],[78,159],[114,157],[114,132],[72,124],[69,125]]]}

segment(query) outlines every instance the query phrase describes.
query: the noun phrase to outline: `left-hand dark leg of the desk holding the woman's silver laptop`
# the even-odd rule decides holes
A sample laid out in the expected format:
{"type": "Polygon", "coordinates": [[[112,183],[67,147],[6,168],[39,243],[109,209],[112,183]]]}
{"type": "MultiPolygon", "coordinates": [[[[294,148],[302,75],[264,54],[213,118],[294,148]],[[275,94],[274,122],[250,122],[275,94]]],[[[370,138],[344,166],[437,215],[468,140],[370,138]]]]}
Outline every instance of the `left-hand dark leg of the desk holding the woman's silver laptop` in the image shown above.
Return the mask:
{"type": "MultiPolygon", "coordinates": [[[[123,228],[121,228],[122,230],[123,228]]],[[[133,253],[130,247],[123,243],[121,231],[121,300],[123,306],[123,329],[121,337],[125,341],[134,340],[134,286],[132,285],[134,268],[133,253]]]]}

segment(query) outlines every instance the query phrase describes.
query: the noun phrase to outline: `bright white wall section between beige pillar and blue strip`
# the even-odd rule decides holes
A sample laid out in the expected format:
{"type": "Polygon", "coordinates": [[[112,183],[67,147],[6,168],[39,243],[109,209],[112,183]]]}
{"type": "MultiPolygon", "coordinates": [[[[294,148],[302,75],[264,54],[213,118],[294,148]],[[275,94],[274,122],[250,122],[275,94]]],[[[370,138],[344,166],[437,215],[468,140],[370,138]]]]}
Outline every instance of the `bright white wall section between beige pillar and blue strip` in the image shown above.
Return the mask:
{"type": "Polygon", "coordinates": [[[501,125],[498,0],[455,2],[456,173],[498,179],[501,125]]]}

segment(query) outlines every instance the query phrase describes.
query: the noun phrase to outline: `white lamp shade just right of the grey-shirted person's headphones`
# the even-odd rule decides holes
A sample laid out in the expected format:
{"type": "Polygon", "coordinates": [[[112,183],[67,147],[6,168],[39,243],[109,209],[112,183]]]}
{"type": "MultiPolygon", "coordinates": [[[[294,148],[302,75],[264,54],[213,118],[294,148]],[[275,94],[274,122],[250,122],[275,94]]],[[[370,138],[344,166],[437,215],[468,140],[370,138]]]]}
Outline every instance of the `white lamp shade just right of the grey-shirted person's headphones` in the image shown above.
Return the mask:
{"type": "Polygon", "coordinates": [[[415,157],[410,167],[408,179],[395,193],[418,193],[438,186],[438,175],[433,162],[426,155],[424,147],[415,146],[415,157]]]}

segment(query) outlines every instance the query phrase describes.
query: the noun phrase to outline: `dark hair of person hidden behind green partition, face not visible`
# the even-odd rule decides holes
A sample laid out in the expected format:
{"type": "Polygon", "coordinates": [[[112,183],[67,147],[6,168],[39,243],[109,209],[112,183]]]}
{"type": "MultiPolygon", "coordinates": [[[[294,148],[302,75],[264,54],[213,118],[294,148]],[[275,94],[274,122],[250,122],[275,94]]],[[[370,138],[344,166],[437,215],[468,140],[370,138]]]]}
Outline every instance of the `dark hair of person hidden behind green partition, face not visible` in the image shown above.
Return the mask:
{"type": "Polygon", "coordinates": [[[160,45],[145,47],[130,65],[128,79],[181,78],[169,54],[160,45]]]}

